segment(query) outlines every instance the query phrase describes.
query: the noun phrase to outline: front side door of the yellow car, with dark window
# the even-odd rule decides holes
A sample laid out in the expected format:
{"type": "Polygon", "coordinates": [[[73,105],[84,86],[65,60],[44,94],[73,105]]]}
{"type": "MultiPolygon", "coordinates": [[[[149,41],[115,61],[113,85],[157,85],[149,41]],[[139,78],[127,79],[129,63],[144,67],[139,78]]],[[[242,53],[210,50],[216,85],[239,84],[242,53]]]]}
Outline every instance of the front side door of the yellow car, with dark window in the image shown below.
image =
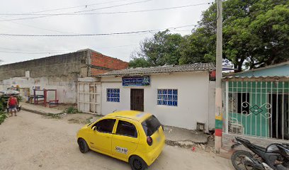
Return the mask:
{"type": "Polygon", "coordinates": [[[111,139],[113,137],[113,127],[115,119],[107,118],[99,120],[92,126],[93,133],[90,135],[89,143],[91,149],[101,151],[106,154],[111,153],[111,139]]]}

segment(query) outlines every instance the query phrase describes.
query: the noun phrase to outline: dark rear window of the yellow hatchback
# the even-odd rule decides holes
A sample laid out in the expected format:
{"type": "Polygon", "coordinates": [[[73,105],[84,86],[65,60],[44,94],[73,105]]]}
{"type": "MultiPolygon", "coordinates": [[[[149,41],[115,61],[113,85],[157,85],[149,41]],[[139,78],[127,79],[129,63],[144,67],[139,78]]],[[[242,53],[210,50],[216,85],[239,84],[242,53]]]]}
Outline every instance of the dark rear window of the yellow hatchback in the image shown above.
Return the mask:
{"type": "Polygon", "coordinates": [[[154,134],[154,132],[159,129],[160,125],[161,123],[159,123],[159,120],[157,120],[154,115],[150,116],[149,118],[147,118],[147,120],[142,122],[142,128],[145,130],[145,134],[147,136],[151,136],[152,134],[154,134]]]}

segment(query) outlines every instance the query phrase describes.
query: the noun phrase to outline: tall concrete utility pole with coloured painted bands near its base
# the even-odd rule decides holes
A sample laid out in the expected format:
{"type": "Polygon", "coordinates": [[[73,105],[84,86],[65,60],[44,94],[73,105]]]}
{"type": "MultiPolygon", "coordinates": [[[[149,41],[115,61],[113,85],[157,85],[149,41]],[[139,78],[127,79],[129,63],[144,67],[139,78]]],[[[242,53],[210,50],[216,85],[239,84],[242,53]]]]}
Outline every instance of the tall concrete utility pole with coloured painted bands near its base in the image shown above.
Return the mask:
{"type": "Polygon", "coordinates": [[[222,0],[217,0],[215,150],[222,147],[222,0]]]}

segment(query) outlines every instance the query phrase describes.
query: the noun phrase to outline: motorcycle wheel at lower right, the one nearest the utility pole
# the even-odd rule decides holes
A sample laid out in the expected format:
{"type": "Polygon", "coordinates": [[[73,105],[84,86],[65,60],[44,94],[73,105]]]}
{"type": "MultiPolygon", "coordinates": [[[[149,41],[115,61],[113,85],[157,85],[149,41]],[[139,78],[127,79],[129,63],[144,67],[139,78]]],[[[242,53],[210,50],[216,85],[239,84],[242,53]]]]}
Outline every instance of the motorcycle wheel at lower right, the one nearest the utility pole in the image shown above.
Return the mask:
{"type": "Polygon", "coordinates": [[[252,166],[246,166],[243,164],[245,157],[253,157],[250,152],[244,150],[237,150],[232,154],[232,164],[237,170],[252,170],[252,166]]]}

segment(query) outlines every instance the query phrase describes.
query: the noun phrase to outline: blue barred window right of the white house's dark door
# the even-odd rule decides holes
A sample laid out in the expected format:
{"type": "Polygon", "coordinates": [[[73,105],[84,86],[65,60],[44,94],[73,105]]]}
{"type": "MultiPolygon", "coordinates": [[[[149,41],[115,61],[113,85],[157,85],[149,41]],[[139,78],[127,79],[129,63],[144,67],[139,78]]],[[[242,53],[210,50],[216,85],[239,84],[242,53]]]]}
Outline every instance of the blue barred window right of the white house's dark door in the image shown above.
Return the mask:
{"type": "Polygon", "coordinates": [[[178,106],[178,90],[157,89],[157,105],[178,106]]]}

